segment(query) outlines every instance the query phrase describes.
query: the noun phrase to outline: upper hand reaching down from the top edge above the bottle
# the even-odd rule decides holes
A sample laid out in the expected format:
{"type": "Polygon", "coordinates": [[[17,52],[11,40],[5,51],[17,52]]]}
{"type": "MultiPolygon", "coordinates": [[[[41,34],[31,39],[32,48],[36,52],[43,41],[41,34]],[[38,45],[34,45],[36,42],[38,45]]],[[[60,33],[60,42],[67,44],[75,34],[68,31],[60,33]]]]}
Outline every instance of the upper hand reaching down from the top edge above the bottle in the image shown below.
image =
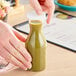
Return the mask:
{"type": "Polygon", "coordinates": [[[41,15],[42,12],[48,13],[47,23],[49,24],[55,8],[53,1],[52,0],[30,0],[30,3],[38,15],[41,15]]]}

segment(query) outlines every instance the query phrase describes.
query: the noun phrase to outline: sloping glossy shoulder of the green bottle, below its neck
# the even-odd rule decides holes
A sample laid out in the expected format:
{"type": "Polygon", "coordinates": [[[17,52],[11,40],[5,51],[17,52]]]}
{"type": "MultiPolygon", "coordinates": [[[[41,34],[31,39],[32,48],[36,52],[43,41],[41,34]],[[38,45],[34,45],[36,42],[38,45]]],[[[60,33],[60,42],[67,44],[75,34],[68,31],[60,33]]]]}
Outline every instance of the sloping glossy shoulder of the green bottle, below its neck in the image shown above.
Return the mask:
{"type": "Polygon", "coordinates": [[[46,47],[46,39],[43,34],[35,34],[33,33],[28,37],[29,39],[26,40],[26,45],[32,47],[46,47]]]}

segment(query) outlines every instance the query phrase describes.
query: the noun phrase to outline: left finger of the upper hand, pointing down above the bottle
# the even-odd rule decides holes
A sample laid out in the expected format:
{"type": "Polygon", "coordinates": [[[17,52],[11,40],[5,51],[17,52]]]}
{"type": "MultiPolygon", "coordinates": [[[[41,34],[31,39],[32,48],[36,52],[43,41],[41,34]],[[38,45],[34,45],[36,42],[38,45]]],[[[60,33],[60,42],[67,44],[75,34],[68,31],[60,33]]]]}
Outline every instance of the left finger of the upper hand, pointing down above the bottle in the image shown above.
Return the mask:
{"type": "Polygon", "coordinates": [[[30,0],[30,3],[33,6],[33,8],[35,9],[36,13],[38,15],[41,15],[43,11],[42,11],[42,8],[41,8],[38,0],[30,0]]]}

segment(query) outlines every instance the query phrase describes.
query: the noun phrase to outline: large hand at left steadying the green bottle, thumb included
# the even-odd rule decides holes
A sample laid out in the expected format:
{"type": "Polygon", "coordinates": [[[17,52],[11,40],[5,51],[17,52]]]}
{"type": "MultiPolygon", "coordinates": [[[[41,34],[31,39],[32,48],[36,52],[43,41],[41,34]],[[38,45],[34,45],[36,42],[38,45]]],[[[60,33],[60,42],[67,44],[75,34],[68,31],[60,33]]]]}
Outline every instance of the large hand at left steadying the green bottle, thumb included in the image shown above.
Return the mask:
{"type": "Polygon", "coordinates": [[[31,56],[18,38],[25,41],[21,34],[9,27],[8,24],[0,21],[0,56],[5,58],[7,62],[27,70],[31,68],[31,56]]]}

